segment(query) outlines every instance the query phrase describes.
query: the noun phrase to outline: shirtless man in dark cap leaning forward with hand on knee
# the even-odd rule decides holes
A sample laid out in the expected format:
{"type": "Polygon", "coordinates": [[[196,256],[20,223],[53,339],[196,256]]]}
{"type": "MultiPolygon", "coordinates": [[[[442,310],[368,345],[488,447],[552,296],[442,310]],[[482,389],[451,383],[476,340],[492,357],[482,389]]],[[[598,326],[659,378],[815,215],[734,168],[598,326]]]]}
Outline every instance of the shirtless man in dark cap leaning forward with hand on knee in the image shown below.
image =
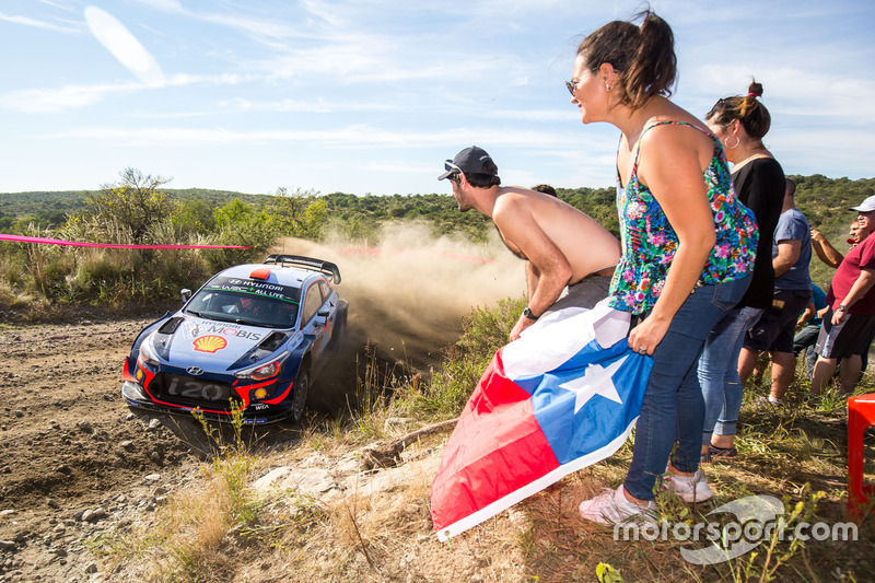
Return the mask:
{"type": "Polygon", "coordinates": [[[526,263],[528,305],[511,340],[548,310],[593,307],[607,296],[620,242],[590,215],[559,198],[518,186],[502,187],[485,150],[466,148],[444,164],[458,210],[476,209],[495,223],[511,252],[526,263]],[[563,291],[567,294],[560,296],[563,291]]]}

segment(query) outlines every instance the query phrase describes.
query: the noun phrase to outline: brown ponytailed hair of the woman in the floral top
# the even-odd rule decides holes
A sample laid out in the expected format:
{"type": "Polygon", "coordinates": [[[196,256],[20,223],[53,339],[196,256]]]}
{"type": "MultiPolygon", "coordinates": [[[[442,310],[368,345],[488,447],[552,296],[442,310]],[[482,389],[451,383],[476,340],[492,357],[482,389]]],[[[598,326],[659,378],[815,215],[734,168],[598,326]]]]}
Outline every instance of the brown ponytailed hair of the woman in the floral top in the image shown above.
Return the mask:
{"type": "Polygon", "coordinates": [[[614,21],[587,36],[578,47],[586,67],[596,73],[609,62],[618,73],[620,103],[639,109],[654,95],[670,95],[677,78],[675,35],[668,23],[644,11],[641,26],[614,21]]]}

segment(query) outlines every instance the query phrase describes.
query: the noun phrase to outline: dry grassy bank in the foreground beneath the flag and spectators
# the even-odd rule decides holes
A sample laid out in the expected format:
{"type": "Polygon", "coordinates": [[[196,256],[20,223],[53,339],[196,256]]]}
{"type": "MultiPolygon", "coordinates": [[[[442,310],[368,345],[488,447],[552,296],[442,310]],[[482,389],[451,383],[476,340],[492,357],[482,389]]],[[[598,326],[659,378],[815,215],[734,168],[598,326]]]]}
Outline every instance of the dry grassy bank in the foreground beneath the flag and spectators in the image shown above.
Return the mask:
{"type": "MultiPolygon", "coordinates": [[[[357,406],[348,416],[308,419],[294,448],[259,455],[258,467],[295,466],[322,456],[320,467],[335,471],[362,444],[397,438],[402,430],[393,429],[386,420],[399,411],[416,416],[410,403],[419,401],[384,398],[384,385],[392,385],[399,398],[416,393],[409,386],[398,390],[390,376],[369,362],[357,406]]],[[[418,390],[428,394],[435,386],[418,390]]],[[[875,380],[866,376],[861,386],[871,392],[875,380]]],[[[715,520],[709,513],[723,503],[771,494],[783,499],[791,524],[847,521],[843,404],[827,399],[813,409],[802,403],[806,388],[804,381],[797,382],[783,409],[755,400],[763,394],[762,386],[749,390],[737,440],[739,457],[704,468],[715,500],[688,505],[660,494],[661,514],[670,524],[708,523],[715,520]]],[[[431,421],[431,409],[420,418],[423,423],[431,421]]],[[[578,505],[622,481],[631,441],[609,459],[441,544],[429,509],[431,481],[445,439],[423,439],[408,448],[405,464],[381,470],[377,477],[361,473],[358,481],[343,481],[343,476],[336,475],[337,483],[346,489],[341,495],[324,499],[293,491],[250,495],[245,486],[257,477],[256,465],[252,458],[238,458],[247,452],[231,448],[203,473],[199,489],[177,494],[160,511],[161,526],[140,536],[151,541],[141,555],[147,559],[135,561],[124,573],[141,573],[145,564],[158,564],[160,570],[152,576],[168,581],[571,582],[595,581],[600,569],[610,568],[622,579],[604,581],[763,583],[866,581],[875,572],[875,517],[861,524],[858,541],[774,546],[767,541],[732,561],[704,567],[681,557],[681,548],[693,548],[692,543],[615,540],[612,528],[581,518],[578,505]],[[392,483],[376,488],[374,479],[392,483]]],[[[870,455],[875,458],[871,450],[870,455]]],[[[867,469],[872,480],[872,466],[867,469]]]]}

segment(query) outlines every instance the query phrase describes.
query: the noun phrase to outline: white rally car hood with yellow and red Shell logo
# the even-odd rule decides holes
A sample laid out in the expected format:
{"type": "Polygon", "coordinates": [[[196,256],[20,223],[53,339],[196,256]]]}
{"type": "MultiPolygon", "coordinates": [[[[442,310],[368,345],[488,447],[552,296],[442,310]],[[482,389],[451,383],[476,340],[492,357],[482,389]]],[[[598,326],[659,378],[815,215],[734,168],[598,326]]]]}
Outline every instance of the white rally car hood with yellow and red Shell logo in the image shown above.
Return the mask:
{"type": "Polygon", "coordinates": [[[170,363],[224,372],[273,331],[288,330],[186,316],[173,331],[170,363]]]}

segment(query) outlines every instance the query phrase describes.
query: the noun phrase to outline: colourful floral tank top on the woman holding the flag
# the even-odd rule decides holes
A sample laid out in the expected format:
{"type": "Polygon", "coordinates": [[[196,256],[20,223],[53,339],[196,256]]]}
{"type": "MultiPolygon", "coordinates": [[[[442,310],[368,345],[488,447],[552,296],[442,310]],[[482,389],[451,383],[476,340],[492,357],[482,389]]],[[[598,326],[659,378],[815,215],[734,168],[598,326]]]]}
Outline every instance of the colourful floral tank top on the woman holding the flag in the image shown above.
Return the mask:
{"type": "MultiPolygon", "coordinates": [[[[716,243],[708,257],[697,285],[711,285],[742,278],[754,270],[759,232],[754,212],[735,196],[726,155],[720,140],[686,121],[661,121],[689,126],[714,141],[714,155],[704,171],[708,199],[714,217],[716,243]]],[[[639,139],[639,148],[641,139],[639,139]]],[[[610,282],[609,304],[616,310],[641,314],[656,303],[678,246],[677,234],[668,224],[650,189],[638,180],[638,156],[632,175],[623,188],[617,171],[617,211],[620,218],[622,257],[610,282]]]]}

